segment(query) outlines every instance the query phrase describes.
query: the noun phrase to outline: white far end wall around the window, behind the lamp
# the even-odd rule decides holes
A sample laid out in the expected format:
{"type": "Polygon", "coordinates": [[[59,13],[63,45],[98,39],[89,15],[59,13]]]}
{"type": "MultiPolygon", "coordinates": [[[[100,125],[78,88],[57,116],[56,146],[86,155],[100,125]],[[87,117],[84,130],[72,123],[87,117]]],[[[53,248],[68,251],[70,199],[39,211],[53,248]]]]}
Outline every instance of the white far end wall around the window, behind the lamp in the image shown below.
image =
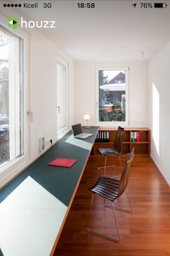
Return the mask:
{"type": "Polygon", "coordinates": [[[96,121],[96,67],[130,67],[129,72],[129,127],[148,127],[148,64],[136,62],[76,62],[75,63],[75,117],[84,123],[84,114],[90,114],[89,124],[96,121]]]}

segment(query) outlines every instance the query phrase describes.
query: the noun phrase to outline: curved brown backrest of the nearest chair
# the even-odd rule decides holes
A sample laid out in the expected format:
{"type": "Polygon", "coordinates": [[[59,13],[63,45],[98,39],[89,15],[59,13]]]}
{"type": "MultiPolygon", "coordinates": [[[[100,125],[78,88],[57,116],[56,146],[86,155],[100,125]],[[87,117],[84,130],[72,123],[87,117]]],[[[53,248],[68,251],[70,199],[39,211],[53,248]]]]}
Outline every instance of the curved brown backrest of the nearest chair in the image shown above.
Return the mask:
{"type": "Polygon", "coordinates": [[[127,160],[126,160],[125,166],[122,169],[122,175],[120,177],[120,191],[119,191],[118,197],[122,195],[122,193],[125,191],[128,185],[129,168],[130,168],[131,162],[133,161],[134,156],[135,156],[135,153],[133,148],[133,150],[131,150],[131,152],[127,154],[127,160]]]}

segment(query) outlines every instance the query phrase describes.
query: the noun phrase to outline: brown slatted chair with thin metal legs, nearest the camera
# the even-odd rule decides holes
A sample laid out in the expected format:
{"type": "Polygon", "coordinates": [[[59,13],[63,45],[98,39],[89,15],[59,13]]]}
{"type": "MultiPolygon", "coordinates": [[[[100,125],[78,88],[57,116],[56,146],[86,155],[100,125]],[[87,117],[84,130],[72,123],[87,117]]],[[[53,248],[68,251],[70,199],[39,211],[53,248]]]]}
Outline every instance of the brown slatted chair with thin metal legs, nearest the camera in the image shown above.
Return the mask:
{"type": "MultiPolygon", "coordinates": [[[[128,197],[128,202],[130,205],[130,210],[129,209],[125,209],[125,208],[120,208],[114,205],[115,200],[117,200],[117,198],[119,198],[123,192],[125,192],[126,187],[128,185],[128,178],[129,178],[129,168],[130,168],[130,163],[133,161],[134,158],[134,148],[133,150],[127,154],[127,161],[125,163],[124,168],[122,169],[122,175],[120,177],[120,179],[114,179],[108,176],[99,176],[99,179],[97,180],[97,183],[89,188],[89,190],[91,192],[93,192],[93,195],[91,197],[91,208],[90,208],[90,213],[89,213],[89,222],[88,222],[88,227],[87,227],[87,231],[93,233],[93,234],[97,234],[99,236],[105,237],[107,239],[111,239],[114,240],[116,242],[120,242],[120,231],[119,231],[119,227],[117,224],[117,220],[116,220],[116,216],[115,216],[115,209],[117,210],[122,210],[128,213],[132,213],[132,208],[130,205],[130,200],[128,197]],[[94,195],[99,195],[101,197],[104,197],[104,207],[107,208],[112,208],[113,214],[114,214],[114,218],[115,218],[115,224],[116,224],[116,228],[117,228],[117,234],[118,236],[109,236],[108,234],[104,234],[98,231],[94,231],[93,229],[89,228],[90,225],[90,220],[91,220],[91,209],[92,209],[92,204],[93,204],[93,200],[94,200],[94,195]],[[110,200],[112,202],[111,205],[106,205],[105,204],[105,200],[110,200]]],[[[127,192],[127,196],[128,196],[128,192],[127,192]]]]}

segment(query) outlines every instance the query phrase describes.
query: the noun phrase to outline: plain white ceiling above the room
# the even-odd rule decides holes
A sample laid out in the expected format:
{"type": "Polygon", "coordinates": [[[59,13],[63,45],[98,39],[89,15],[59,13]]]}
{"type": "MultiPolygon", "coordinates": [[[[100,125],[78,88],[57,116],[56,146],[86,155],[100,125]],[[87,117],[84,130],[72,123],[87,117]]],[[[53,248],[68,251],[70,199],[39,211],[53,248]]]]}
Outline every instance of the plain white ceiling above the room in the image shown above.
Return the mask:
{"type": "Polygon", "coordinates": [[[164,9],[141,9],[135,0],[91,1],[94,9],[79,9],[82,1],[50,2],[51,9],[21,13],[28,20],[56,20],[56,28],[41,31],[76,61],[148,60],[170,41],[170,1],[164,9]]]}

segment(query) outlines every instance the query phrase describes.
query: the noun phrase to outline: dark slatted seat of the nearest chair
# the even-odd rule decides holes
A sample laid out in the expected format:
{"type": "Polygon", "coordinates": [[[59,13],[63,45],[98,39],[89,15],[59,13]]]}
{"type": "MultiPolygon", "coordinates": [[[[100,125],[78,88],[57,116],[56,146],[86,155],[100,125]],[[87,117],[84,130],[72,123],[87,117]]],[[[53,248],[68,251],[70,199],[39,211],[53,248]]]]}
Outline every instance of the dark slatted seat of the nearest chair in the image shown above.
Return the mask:
{"type": "Polygon", "coordinates": [[[120,192],[120,180],[107,176],[99,176],[97,183],[89,188],[94,193],[108,200],[115,200],[120,192]]]}

